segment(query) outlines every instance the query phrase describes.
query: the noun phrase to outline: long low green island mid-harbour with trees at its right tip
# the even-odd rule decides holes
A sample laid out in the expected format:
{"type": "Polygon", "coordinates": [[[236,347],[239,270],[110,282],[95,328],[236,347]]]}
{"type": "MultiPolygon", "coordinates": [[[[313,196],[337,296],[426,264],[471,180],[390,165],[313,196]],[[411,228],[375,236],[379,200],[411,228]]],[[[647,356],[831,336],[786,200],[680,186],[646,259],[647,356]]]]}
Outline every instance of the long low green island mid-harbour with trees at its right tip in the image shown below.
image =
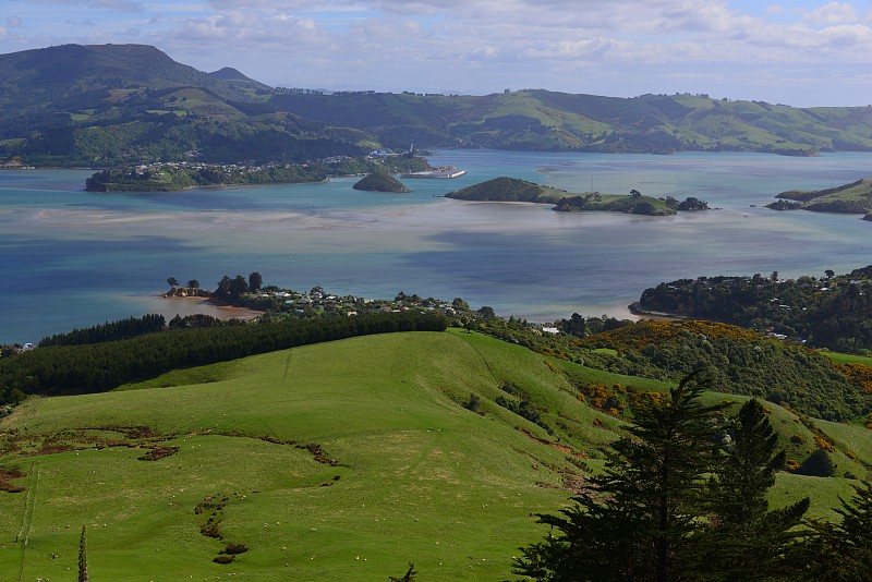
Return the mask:
{"type": "Polygon", "coordinates": [[[600,192],[574,193],[543,186],[517,178],[495,178],[486,182],[449,192],[446,198],[476,202],[525,202],[553,204],[559,213],[606,211],[645,216],[669,216],[680,211],[707,210],[708,205],[693,196],[683,202],[673,196],[655,198],[644,196],[638,190],[629,195],[601,194],[600,192]]]}

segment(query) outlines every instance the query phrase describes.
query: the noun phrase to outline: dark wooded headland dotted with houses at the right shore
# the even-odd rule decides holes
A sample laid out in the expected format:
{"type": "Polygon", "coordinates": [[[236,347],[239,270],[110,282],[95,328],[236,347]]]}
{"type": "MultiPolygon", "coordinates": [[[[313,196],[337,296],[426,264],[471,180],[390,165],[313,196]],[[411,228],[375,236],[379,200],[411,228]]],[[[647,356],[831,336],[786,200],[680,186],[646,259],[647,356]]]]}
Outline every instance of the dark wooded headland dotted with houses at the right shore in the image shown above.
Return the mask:
{"type": "Polygon", "coordinates": [[[815,348],[872,350],[872,266],[821,279],[803,276],[700,277],[646,289],[642,310],[714,319],[815,348]]]}

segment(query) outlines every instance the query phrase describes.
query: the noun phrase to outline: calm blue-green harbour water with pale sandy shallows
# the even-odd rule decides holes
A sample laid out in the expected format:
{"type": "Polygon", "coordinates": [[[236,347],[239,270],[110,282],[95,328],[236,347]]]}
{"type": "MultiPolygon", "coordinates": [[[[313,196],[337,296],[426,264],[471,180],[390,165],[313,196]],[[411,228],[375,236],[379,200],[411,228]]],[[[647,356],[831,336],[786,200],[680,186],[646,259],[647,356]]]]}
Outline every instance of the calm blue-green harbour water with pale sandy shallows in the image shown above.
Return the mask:
{"type": "Polygon", "coordinates": [[[872,264],[872,222],[763,208],[789,189],[872,175],[872,154],[635,156],[439,151],[456,180],[407,180],[411,194],[329,183],[83,192],[90,172],[0,171],[0,343],[38,341],[132,315],[204,308],[162,300],[170,276],[214,288],[265,283],[390,298],[463,298],[530,320],[607,313],[661,281],[700,275],[846,272],[872,264]],[[719,210],[675,217],[562,214],[465,203],[450,190],[511,175],[574,192],[697,196],[719,210]],[[752,207],[751,205],[756,205],[752,207]]]}

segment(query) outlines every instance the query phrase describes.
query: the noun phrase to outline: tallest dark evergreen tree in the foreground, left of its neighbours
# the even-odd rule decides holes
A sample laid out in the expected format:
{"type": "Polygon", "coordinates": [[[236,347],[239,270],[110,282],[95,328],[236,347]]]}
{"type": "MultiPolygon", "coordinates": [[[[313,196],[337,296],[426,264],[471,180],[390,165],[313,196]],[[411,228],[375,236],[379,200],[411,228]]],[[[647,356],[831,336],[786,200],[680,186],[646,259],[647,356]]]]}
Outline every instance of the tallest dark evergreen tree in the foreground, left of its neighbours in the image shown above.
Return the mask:
{"type": "Polygon", "coordinates": [[[514,573],[549,582],[689,578],[688,539],[704,526],[705,475],[716,458],[708,437],[720,412],[700,402],[698,376],[637,411],[631,436],[613,445],[605,473],[573,507],[538,516],[558,535],[522,548],[514,573]]]}

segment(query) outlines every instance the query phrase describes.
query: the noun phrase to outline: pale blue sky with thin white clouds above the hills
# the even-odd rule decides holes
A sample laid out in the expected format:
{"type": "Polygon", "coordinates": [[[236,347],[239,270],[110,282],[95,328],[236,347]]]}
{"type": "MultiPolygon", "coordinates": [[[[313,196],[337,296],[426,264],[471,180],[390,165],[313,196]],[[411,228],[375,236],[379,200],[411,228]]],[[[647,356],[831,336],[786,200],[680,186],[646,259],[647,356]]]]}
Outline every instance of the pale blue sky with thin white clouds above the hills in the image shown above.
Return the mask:
{"type": "Polygon", "coordinates": [[[872,0],[1,0],[0,53],[152,45],[271,86],[872,104],[872,0]]]}

